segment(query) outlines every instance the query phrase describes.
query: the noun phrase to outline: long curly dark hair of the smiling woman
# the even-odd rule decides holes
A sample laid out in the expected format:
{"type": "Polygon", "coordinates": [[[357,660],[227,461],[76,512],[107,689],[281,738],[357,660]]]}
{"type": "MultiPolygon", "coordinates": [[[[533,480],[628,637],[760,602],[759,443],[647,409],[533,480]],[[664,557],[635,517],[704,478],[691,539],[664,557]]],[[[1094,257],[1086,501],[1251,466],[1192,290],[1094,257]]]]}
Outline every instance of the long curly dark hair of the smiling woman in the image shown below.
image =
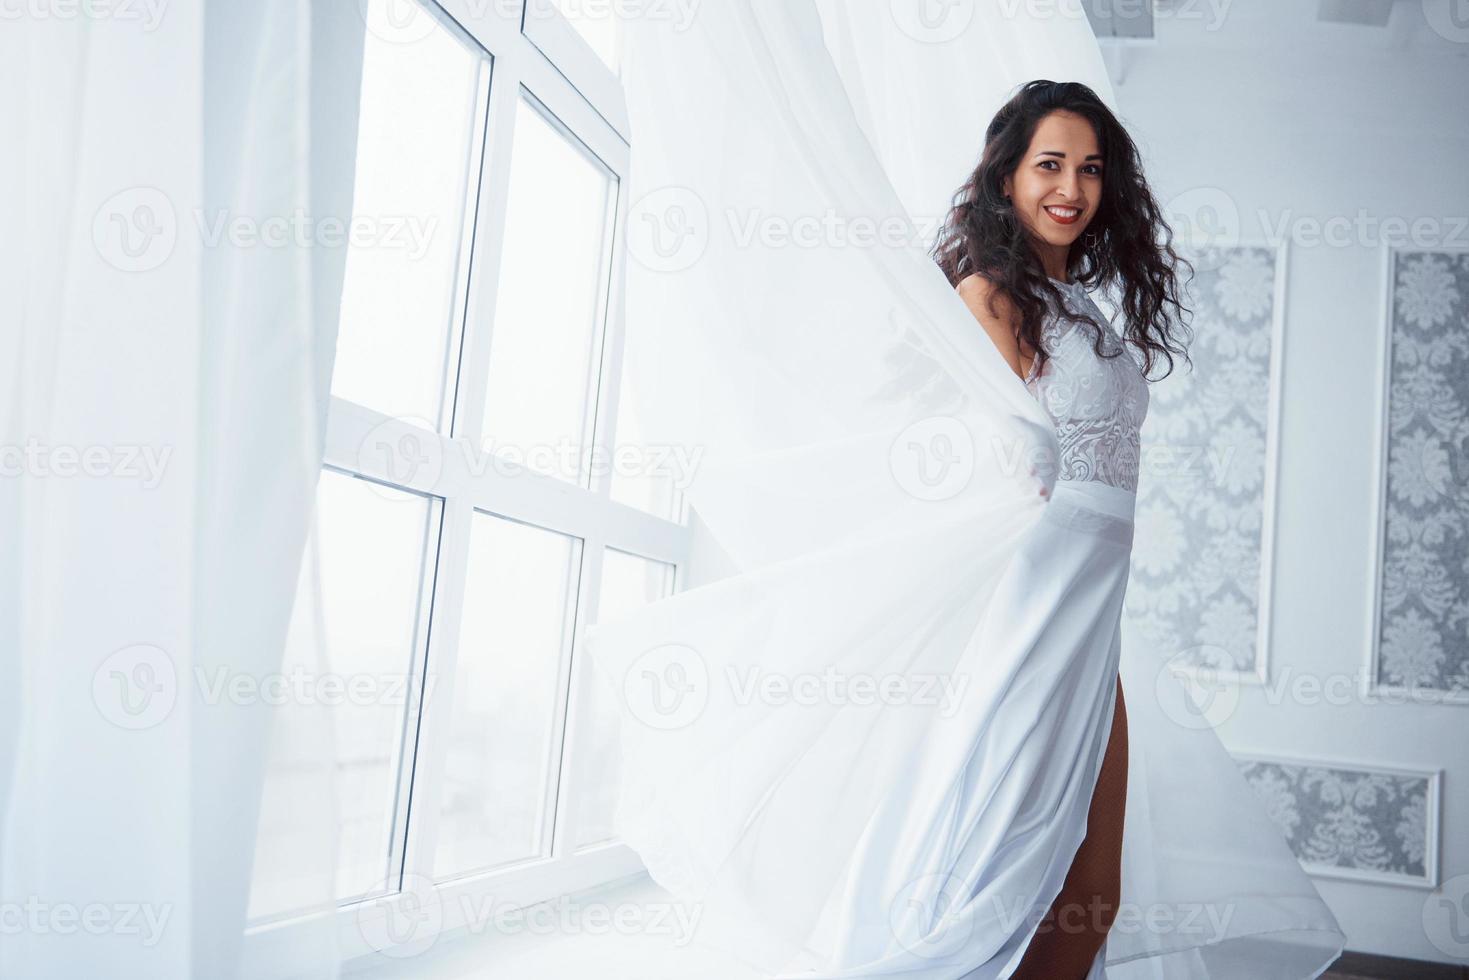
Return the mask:
{"type": "MultiPolygon", "coordinates": [[[[1036,351],[1036,370],[1047,357],[1040,344],[1042,323],[1050,311],[1047,297],[1061,316],[1091,323],[1061,303],[1061,291],[1046,275],[1030,231],[1003,191],[1005,178],[1018,170],[1040,120],[1056,110],[1074,112],[1091,123],[1105,165],[1096,215],[1066,256],[1069,278],[1121,295],[1118,309],[1127,320],[1122,336],[1143,353],[1144,375],[1153,369],[1156,357],[1166,357],[1166,378],[1172,373],[1175,354],[1193,364],[1185,347],[1191,331],[1181,320],[1175,326],[1165,309],[1171,306],[1174,311],[1191,313],[1178,301],[1175,267],[1187,264],[1191,281],[1193,264],[1172,248],[1174,232],[1143,178],[1137,145],[1087,85],[1049,79],[1025,82],[995,115],[984,134],[980,163],[964,187],[955,191],[952,209],[930,254],[950,285],[983,272],[1009,297],[1022,317],[1021,338],[1036,351]],[[1180,334],[1184,342],[1180,342],[1180,334]]],[[[1094,348],[1105,357],[1102,326],[1091,326],[1096,331],[1094,348]]],[[[1112,356],[1116,353],[1112,351],[1112,356]]]]}

